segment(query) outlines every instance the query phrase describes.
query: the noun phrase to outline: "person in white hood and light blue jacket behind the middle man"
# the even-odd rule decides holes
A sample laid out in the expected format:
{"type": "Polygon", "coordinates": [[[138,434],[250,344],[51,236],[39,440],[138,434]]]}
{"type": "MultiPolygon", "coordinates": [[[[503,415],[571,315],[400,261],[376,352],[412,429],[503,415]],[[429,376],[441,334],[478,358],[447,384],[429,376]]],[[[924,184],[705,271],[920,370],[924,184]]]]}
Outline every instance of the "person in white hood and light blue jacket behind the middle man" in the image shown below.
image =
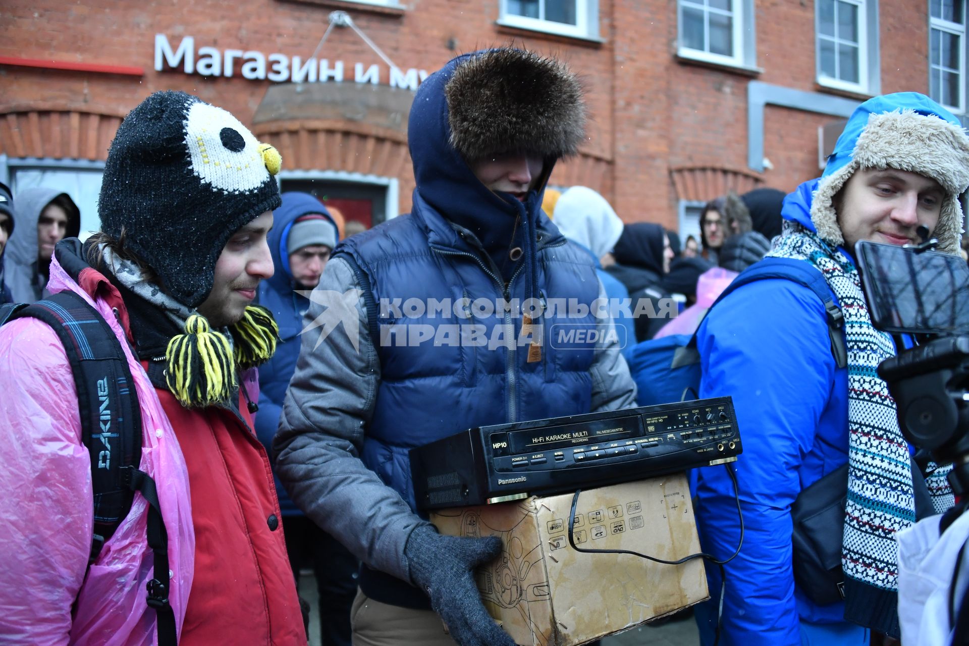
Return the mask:
{"type": "MultiPolygon", "coordinates": [[[[629,292],[626,286],[603,269],[604,265],[615,262],[612,247],[622,235],[623,227],[622,220],[612,210],[606,198],[586,186],[573,186],[555,203],[553,217],[562,235],[588,252],[596,263],[596,275],[602,281],[610,299],[610,307],[627,300],[629,292]]],[[[613,311],[610,310],[610,313],[613,311]]],[[[623,355],[627,355],[636,345],[636,327],[633,325],[632,313],[615,307],[612,321],[617,330],[623,330],[620,332],[619,344],[622,346],[623,355]]]]}

